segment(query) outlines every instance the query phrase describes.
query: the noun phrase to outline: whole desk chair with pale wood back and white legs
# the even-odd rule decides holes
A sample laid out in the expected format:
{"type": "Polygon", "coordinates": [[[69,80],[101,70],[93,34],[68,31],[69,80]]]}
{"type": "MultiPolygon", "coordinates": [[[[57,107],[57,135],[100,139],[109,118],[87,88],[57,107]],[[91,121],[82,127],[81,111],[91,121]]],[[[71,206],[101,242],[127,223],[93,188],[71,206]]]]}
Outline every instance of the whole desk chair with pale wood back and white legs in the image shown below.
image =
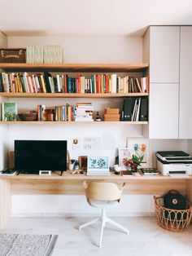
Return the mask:
{"type": "Polygon", "coordinates": [[[106,223],[111,223],[112,225],[120,228],[123,232],[129,234],[129,230],[120,224],[116,223],[111,218],[106,216],[105,209],[108,207],[116,206],[120,203],[120,197],[123,192],[125,183],[123,184],[122,188],[119,189],[116,186],[116,183],[103,183],[103,182],[90,182],[90,183],[83,183],[83,187],[85,188],[85,195],[89,205],[101,208],[102,215],[100,218],[95,218],[94,220],[90,221],[89,223],[85,223],[79,227],[81,230],[83,227],[87,227],[91,224],[96,223],[98,220],[102,221],[102,228],[101,228],[101,236],[99,247],[102,247],[102,238],[103,238],[103,228],[105,227],[106,223]]]}

